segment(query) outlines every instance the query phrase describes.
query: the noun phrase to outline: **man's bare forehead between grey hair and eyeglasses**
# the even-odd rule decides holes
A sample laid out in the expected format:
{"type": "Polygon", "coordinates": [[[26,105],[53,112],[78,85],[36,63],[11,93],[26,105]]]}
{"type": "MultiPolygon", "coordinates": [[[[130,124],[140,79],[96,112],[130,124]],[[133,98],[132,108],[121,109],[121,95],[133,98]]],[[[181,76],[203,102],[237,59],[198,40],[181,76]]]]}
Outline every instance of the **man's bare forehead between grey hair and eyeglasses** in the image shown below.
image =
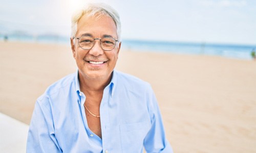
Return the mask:
{"type": "Polygon", "coordinates": [[[117,29],[114,20],[107,15],[102,16],[86,16],[83,15],[77,22],[77,34],[91,34],[94,37],[102,37],[110,35],[117,38],[117,29]]]}

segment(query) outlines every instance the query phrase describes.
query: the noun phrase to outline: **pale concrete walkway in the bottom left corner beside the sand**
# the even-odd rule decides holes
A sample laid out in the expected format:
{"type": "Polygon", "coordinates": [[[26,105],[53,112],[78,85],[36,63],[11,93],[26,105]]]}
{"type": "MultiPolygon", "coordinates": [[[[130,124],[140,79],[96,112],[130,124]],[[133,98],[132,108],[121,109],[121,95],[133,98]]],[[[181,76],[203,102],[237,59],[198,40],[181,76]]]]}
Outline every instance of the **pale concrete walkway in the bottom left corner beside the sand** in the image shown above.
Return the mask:
{"type": "Polygon", "coordinates": [[[0,152],[26,152],[29,126],[0,113],[0,152]]]}

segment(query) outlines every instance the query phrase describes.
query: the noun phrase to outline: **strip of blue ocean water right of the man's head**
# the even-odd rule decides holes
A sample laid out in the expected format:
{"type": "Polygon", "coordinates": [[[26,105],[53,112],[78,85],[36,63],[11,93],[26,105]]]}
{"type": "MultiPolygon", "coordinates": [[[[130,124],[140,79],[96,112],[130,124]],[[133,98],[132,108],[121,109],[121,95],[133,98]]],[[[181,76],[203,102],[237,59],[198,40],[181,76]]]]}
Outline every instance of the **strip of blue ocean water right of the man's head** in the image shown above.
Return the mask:
{"type": "Polygon", "coordinates": [[[186,43],[123,40],[122,47],[138,51],[167,52],[175,54],[214,55],[225,58],[251,60],[251,52],[256,45],[186,43]]]}

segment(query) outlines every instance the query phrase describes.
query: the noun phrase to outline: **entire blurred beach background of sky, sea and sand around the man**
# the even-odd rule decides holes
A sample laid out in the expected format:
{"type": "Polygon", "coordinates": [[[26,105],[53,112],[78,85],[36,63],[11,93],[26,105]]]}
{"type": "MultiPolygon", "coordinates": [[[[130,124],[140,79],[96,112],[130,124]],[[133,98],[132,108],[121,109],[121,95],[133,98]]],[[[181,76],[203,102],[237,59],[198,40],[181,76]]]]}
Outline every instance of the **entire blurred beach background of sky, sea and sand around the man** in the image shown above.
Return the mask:
{"type": "Polygon", "coordinates": [[[174,152],[256,152],[252,0],[0,0],[0,150],[26,152],[37,97],[77,70],[71,16],[91,2],[119,12],[116,69],[152,85],[174,152]]]}

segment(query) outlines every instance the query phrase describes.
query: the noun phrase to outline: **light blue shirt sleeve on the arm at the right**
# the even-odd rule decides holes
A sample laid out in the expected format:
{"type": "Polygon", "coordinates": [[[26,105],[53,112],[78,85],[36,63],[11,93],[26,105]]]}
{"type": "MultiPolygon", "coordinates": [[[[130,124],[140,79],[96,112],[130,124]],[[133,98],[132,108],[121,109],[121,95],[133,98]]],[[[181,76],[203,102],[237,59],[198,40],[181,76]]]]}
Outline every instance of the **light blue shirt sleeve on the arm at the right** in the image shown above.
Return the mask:
{"type": "Polygon", "coordinates": [[[148,111],[151,115],[152,126],[143,142],[145,150],[146,152],[172,153],[172,146],[170,146],[168,140],[165,137],[163,121],[159,106],[157,104],[156,96],[151,87],[148,89],[150,90],[147,93],[147,103],[149,105],[148,111]]]}

